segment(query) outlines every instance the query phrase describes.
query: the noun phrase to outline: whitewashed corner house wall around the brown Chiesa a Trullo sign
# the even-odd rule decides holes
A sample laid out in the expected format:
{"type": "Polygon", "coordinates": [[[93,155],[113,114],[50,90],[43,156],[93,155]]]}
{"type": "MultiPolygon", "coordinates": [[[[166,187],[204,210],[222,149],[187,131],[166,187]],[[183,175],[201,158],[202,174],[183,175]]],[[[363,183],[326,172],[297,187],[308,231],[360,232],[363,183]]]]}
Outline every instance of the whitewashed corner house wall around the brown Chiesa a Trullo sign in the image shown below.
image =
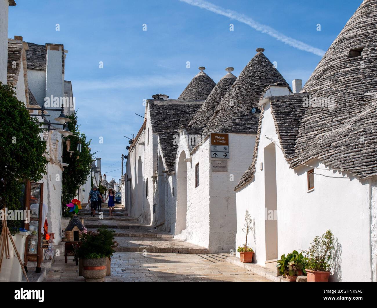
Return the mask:
{"type": "MultiPolygon", "coordinates": [[[[204,140],[190,156],[187,135],[180,135],[176,157],[176,171],[182,152],[187,162],[186,230],[176,238],[208,247],[210,252],[234,250],[236,237],[236,193],[234,186],[251,164],[255,135],[229,134],[230,158],[228,172],[211,171],[210,138],[204,140]],[[195,166],[199,162],[199,186],[195,187],[195,166]]],[[[172,177],[172,181],[173,181],[172,177]]],[[[170,181],[170,185],[172,185],[170,181]]],[[[176,181],[176,177],[175,177],[176,181]]],[[[176,181],[177,183],[177,181],[176,181]]],[[[179,194],[179,181],[176,192],[179,194]]],[[[171,188],[170,188],[171,189],[171,188]]],[[[169,213],[179,208],[176,199],[168,201],[169,213]]],[[[170,215],[170,214],[169,214],[170,215]]],[[[170,231],[176,234],[174,228],[170,231]]]]}

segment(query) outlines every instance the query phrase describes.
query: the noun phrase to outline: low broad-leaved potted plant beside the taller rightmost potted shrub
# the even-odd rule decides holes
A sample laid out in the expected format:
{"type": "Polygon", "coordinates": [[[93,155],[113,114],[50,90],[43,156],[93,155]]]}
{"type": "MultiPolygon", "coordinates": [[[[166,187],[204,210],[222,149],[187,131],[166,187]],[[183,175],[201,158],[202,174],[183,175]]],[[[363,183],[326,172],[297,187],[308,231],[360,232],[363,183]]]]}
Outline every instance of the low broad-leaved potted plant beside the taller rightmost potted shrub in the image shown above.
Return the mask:
{"type": "Polygon", "coordinates": [[[302,252],[298,253],[297,250],[293,250],[292,253],[288,253],[287,256],[281,256],[281,259],[277,260],[277,269],[282,276],[285,276],[289,281],[296,281],[297,276],[306,273],[305,267],[307,266],[308,259],[302,255],[302,252]]]}

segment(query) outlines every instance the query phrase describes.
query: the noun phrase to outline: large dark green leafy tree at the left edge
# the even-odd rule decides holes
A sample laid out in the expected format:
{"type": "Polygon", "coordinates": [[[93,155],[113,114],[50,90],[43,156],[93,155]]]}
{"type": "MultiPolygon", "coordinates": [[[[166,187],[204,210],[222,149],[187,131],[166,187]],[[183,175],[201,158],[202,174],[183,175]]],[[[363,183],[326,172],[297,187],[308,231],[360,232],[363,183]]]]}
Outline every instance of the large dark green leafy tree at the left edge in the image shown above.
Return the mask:
{"type": "MultiPolygon", "coordinates": [[[[25,180],[38,182],[46,173],[46,141],[36,117],[30,117],[14,88],[0,82],[0,209],[23,209],[25,180]]],[[[21,222],[9,220],[11,233],[19,232],[21,222]]],[[[1,226],[0,226],[1,229],[1,226]]]]}

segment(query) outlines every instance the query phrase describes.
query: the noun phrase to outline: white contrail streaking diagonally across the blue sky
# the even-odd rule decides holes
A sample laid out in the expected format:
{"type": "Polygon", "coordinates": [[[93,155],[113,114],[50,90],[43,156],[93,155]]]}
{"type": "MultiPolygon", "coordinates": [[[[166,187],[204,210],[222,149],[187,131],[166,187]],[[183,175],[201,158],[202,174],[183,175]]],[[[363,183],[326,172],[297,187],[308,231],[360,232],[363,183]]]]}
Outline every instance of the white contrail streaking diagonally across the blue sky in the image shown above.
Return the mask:
{"type": "Polygon", "coordinates": [[[185,2],[187,4],[198,6],[201,9],[206,9],[208,11],[211,11],[215,14],[223,15],[226,17],[229,17],[231,19],[237,20],[241,23],[247,24],[248,26],[252,27],[253,29],[257,31],[261,31],[262,33],[267,33],[268,35],[272,36],[273,38],[276,38],[278,41],[284,42],[285,44],[288,44],[289,46],[295,47],[299,50],[304,50],[306,52],[314,53],[314,55],[317,56],[323,56],[325,54],[325,51],[313,46],[310,46],[308,44],[305,44],[304,42],[297,41],[297,39],[291,38],[289,36],[286,36],[275,29],[266,26],[265,24],[260,24],[253,20],[253,18],[247,17],[244,14],[239,14],[235,11],[223,9],[220,6],[214,5],[207,1],[202,0],[179,0],[181,2],[185,2]]]}

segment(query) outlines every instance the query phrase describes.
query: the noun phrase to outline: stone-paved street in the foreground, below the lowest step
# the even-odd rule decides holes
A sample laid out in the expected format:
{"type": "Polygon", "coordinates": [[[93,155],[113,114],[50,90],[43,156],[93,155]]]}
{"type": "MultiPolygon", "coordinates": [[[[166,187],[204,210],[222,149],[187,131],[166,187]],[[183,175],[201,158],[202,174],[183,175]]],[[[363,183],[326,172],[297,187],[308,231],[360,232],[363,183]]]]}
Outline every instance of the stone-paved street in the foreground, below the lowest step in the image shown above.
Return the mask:
{"type": "MultiPolygon", "coordinates": [[[[105,282],[268,282],[269,280],[225,262],[228,254],[210,255],[116,252],[112,257],[111,276],[105,282]]],[[[55,260],[46,282],[83,282],[72,257],[55,260]]]]}

